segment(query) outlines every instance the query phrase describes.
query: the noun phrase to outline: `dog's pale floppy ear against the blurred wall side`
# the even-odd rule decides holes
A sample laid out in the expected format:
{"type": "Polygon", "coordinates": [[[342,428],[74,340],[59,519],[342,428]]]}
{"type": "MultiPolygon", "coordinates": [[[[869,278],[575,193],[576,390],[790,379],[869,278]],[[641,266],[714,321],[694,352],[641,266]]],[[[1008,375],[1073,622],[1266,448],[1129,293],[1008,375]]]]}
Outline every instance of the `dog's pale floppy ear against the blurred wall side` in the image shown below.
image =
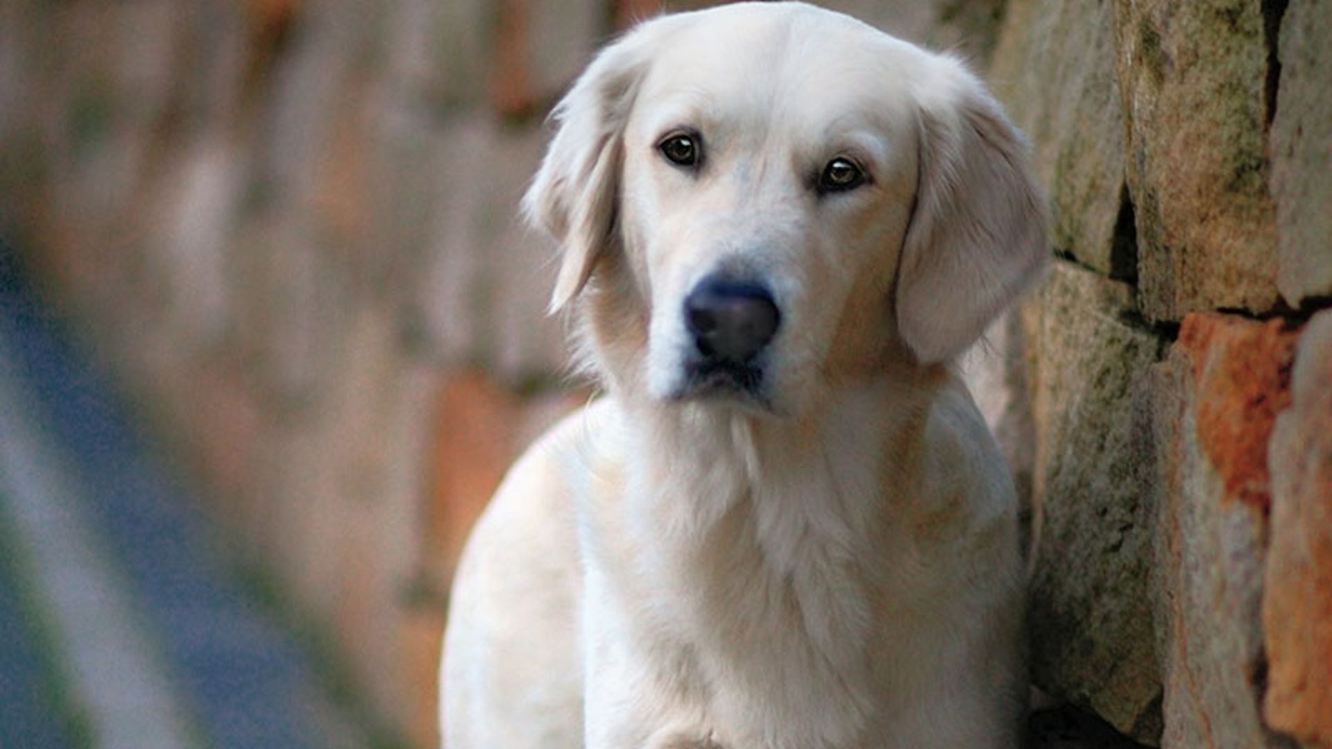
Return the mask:
{"type": "Polygon", "coordinates": [[[623,129],[647,67],[651,25],[603,49],[551,113],[558,131],[522,199],[527,220],[561,245],[551,313],[587,285],[597,261],[618,241],[623,129]]]}

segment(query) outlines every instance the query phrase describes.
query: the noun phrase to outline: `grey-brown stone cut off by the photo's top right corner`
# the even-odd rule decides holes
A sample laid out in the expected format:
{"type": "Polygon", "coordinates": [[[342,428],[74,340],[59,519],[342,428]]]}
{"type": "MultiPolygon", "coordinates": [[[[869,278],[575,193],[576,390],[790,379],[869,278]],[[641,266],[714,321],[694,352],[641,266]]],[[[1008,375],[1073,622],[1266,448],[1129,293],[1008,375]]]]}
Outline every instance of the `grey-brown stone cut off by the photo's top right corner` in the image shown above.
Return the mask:
{"type": "Polygon", "coordinates": [[[1291,0],[1281,21],[1272,120],[1277,285],[1292,305],[1332,296],[1332,1],[1291,0]]]}

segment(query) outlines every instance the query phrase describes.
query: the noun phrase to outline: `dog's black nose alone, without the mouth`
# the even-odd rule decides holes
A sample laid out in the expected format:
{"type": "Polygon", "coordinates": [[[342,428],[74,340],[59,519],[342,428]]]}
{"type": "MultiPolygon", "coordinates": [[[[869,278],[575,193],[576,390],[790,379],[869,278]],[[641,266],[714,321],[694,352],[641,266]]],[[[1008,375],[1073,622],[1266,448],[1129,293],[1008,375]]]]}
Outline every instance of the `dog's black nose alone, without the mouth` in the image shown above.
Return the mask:
{"type": "Polygon", "coordinates": [[[754,359],[781,319],[773,295],[758,284],[707,276],[685,297],[685,320],[699,353],[727,364],[754,359]]]}

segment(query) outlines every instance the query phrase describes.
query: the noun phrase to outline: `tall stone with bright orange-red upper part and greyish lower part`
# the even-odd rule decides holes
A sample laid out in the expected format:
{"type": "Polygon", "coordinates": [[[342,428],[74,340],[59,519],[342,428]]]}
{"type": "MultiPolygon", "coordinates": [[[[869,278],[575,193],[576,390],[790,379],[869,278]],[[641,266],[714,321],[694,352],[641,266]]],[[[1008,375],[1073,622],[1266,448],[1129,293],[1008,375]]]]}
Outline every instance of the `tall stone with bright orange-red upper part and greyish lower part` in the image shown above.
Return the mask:
{"type": "Polygon", "coordinates": [[[1292,746],[1259,704],[1267,442],[1289,402],[1295,340],[1280,321],[1191,315],[1154,372],[1166,749],[1292,746]]]}

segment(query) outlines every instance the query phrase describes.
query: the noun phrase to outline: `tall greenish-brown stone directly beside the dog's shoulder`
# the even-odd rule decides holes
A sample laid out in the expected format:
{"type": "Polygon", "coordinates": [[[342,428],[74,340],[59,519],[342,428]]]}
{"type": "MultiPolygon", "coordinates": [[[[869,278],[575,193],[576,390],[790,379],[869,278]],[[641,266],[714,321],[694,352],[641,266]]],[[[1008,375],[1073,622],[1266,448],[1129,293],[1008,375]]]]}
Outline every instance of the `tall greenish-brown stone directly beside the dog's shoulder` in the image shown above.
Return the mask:
{"type": "Polygon", "coordinates": [[[1036,304],[1027,325],[1038,363],[1032,674],[1154,741],[1155,456],[1142,392],[1160,343],[1127,321],[1127,287],[1068,263],[1055,264],[1036,304]]]}

